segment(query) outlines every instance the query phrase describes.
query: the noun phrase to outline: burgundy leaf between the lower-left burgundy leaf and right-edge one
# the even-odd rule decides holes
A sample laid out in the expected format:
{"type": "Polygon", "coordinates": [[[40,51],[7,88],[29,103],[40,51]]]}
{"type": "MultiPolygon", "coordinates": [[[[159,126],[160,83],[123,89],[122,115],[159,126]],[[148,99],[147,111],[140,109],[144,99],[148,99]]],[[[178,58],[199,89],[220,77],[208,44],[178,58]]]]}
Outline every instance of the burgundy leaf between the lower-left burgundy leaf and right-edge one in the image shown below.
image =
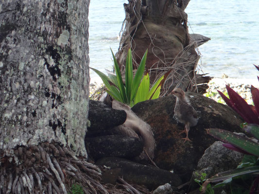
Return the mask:
{"type": "Polygon", "coordinates": [[[242,114],[245,114],[245,121],[247,123],[259,124],[258,116],[254,113],[252,108],[247,104],[247,102],[239,96],[233,89],[226,85],[226,90],[230,100],[233,102],[236,109],[238,109],[242,114]]]}

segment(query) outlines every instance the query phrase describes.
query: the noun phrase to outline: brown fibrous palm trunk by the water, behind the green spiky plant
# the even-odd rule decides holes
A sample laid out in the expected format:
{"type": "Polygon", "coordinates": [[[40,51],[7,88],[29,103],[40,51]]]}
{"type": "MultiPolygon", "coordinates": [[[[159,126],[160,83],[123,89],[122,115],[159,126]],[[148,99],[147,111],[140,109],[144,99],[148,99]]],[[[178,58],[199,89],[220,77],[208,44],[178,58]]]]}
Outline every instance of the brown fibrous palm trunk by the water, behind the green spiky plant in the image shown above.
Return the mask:
{"type": "Polygon", "coordinates": [[[137,68],[148,49],[146,68],[151,82],[171,71],[162,96],[174,87],[197,91],[195,69],[200,58],[197,44],[191,41],[184,9],[190,0],[133,0],[124,4],[125,27],[117,53],[121,71],[127,50],[133,50],[137,68]]]}

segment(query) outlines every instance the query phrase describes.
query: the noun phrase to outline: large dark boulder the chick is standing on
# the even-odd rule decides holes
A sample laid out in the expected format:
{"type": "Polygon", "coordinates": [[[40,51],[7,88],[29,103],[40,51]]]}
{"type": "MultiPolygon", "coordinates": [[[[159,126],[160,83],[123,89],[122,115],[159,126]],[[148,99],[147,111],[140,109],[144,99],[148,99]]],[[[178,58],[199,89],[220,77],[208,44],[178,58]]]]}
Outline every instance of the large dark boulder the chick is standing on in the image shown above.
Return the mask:
{"type": "Polygon", "coordinates": [[[140,102],[132,110],[154,129],[156,165],[162,169],[173,170],[187,182],[205,150],[216,141],[207,135],[205,129],[220,128],[241,132],[240,124],[243,120],[224,104],[196,93],[187,92],[186,95],[199,117],[197,126],[190,128],[189,138],[192,142],[184,143],[182,138],[185,134],[179,134],[184,125],[173,118],[173,95],[140,102]]]}

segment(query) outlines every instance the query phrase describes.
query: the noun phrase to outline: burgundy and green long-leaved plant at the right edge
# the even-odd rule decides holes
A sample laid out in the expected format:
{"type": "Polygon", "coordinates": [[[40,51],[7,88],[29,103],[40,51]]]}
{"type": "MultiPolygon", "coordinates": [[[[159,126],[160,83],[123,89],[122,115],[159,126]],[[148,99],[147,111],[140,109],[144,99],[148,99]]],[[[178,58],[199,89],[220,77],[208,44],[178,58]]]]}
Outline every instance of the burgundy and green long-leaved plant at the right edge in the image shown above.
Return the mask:
{"type": "MultiPolygon", "coordinates": [[[[259,70],[259,66],[255,65],[259,70]]],[[[258,77],[259,80],[259,77],[258,77]]],[[[215,186],[221,186],[232,181],[232,178],[240,178],[244,175],[256,176],[253,178],[253,183],[250,187],[249,194],[254,194],[259,184],[259,89],[251,86],[251,94],[254,105],[248,105],[247,102],[239,96],[233,89],[226,85],[228,97],[218,91],[225,103],[234,111],[239,113],[246,121],[243,129],[252,136],[251,138],[244,137],[224,129],[207,129],[207,133],[221,140],[225,144],[223,146],[244,153],[242,164],[237,169],[219,173],[205,181],[203,191],[206,190],[208,182],[218,182],[215,186]],[[248,123],[248,124],[247,124],[248,123]]]]}

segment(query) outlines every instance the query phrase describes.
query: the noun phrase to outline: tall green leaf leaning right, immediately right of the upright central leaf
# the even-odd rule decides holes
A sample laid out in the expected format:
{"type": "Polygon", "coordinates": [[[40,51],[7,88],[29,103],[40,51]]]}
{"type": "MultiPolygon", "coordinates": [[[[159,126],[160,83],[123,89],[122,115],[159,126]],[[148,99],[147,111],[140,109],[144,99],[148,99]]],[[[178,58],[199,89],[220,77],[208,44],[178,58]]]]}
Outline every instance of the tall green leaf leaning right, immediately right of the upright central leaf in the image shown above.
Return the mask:
{"type": "Polygon", "coordinates": [[[133,80],[133,84],[132,84],[132,93],[131,93],[131,98],[130,100],[131,101],[134,101],[135,97],[136,97],[136,94],[137,94],[137,91],[138,91],[138,86],[140,84],[140,81],[143,77],[143,73],[144,73],[144,70],[145,70],[145,64],[146,64],[146,59],[147,59],[147,53],[148,53],[148,50],[146,50],[139,66],[138,66],[138,70],[136,72],[136,75],[134,77],[134,80],[133,80]]]}

